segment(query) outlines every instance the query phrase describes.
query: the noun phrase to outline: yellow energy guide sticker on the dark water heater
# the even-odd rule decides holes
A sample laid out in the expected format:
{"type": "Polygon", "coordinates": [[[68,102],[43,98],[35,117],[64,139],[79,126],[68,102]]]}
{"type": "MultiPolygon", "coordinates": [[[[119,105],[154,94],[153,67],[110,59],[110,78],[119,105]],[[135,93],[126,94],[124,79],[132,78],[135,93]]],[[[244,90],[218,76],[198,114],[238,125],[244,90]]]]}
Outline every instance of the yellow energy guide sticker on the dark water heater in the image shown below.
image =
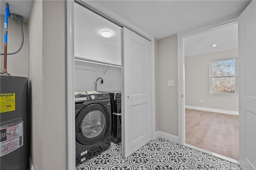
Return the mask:
{"type": "Polygon", "coordinates": [[[15,110],[15,93],[0,94],[0,113],[15,110]]]}

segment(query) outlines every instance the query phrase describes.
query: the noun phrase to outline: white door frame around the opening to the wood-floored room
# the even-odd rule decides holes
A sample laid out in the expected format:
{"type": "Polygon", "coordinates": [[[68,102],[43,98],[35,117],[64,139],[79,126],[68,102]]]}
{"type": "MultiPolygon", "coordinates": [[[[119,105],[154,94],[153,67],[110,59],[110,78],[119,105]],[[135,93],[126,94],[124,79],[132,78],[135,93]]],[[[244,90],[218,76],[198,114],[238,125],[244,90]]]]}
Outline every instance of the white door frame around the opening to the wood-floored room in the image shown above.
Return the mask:
{"type": "Polygon", "coordinates": [[[212,154],[218,156],[220,158],[224,158],[230,162],[234,162],[239,164],[239,161],[228,158],[226,156],[222,156],[208,150],[200,149],[198,147],[194,147],[192,145],[188,145],[185,143],[185,56],[184,56],[184,39],[198,35],[204,32],[208,32],[214,29],[218,29],[221,27],[225,27],[228,25],[232,25],[238,23],[238,16],[240,14],[234,14],[232,16],[222,18],[221,20],[216,20],[204,25],[200,25],[198,27],[188,29],[186,31],[180,32],[177,34],[178,37],[178,141],[180,145],[185,145],[188,147],[192,147],[196,150],[200,150],[202,152],[206,152],[208,154],[212,154]]]}

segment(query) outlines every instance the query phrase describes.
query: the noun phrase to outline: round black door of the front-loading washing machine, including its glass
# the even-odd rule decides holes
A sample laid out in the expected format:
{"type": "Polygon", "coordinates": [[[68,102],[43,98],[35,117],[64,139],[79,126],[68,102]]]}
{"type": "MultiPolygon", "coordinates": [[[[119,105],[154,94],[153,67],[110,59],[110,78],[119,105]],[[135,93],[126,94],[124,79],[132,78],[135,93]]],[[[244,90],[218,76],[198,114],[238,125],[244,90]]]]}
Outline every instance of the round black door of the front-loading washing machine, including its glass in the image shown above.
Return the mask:
{"type": "Polygon", "coordinates": [[[92,145],[102,139],[110,126],[110,116],[106,107],[90,104],[76,115],[76,141],[82,145],[92,145]]]}

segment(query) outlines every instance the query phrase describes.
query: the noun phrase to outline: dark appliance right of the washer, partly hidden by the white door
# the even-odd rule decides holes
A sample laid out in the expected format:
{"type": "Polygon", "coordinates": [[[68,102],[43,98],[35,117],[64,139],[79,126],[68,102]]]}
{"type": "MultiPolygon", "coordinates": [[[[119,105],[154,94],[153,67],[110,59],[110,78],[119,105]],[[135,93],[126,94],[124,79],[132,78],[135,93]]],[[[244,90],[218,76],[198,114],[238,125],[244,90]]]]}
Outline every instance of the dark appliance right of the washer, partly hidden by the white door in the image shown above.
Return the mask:
{"type": "Polygon", "coordinates": [[[121,91],[106,91],[110,94],[111,104],[111,141],[120,143],[122,141],[122,92],[121,91]]]}

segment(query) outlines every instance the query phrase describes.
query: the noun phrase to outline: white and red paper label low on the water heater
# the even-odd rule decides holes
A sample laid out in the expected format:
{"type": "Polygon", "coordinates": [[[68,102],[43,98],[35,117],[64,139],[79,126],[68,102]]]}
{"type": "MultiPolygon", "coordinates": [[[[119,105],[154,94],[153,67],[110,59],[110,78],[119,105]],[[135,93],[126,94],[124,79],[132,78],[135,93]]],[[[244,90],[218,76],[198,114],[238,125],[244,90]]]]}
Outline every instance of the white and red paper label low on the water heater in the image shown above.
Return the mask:
{"type": "Polygon", "coordinates": [[[1,128],[0,156],[4,156],[23,146],[23,124],[13,124],[1,128]]]}

